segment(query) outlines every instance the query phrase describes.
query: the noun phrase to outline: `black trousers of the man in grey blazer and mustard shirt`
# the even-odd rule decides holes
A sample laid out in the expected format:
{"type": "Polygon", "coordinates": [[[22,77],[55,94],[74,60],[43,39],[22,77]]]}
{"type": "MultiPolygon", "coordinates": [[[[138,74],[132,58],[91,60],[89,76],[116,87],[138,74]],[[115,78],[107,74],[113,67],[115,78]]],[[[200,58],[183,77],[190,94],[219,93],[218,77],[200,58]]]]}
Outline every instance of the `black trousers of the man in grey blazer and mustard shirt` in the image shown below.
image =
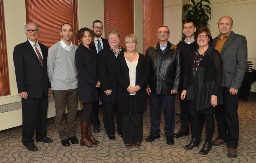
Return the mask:
{"type": "Polygon", "coordinates": [[[218,125],[219,139],[227,141],[227,146],[237,149],[239,140],[238,97],[230,95],[229,88],[222,87],[224,105],[217,107],[215,118],[218,125]]]}

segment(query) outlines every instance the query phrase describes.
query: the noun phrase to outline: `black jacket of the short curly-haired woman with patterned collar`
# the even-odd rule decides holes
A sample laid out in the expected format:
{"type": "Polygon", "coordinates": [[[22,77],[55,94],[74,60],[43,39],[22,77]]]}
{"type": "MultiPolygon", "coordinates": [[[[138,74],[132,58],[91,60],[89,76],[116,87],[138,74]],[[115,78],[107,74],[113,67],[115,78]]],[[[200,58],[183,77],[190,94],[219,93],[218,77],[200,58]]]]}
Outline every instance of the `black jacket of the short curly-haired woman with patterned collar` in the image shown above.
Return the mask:
{"type": "MultiPolygon", "coordinates": [[[[121,53],[124,53],[122,48],[121,53]]],[[[121,54],[120,53],[120,54],[121,54]]],[[[115,78],[115,62],[117,58],[110,48],[102,49],[98,54],[98,73],[101,81],[100,99],[103,103],[117,104],[117,81],[115,78]],[[104,91],[112,89],[107,96],[104,91]]]]}

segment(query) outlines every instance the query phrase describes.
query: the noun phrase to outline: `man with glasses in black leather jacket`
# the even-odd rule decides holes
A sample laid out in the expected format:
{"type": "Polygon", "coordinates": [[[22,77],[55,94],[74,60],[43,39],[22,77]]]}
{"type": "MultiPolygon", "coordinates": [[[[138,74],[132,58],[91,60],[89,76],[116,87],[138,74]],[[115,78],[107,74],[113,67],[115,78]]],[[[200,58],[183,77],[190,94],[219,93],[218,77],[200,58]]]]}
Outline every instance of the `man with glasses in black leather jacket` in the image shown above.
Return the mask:
{"type": "Polygon", "coordinates": [[[161,106],[165,115],[165,136],[168,145],[174,144],[175,95],[178,93],[182,76],[181,49],[168,41],[170,30],[167,26],[158,27],[159,42],[146,50],[150,75],[147,94],[150,99],[150,135],[146,142],[160,138],[161,106]]]}

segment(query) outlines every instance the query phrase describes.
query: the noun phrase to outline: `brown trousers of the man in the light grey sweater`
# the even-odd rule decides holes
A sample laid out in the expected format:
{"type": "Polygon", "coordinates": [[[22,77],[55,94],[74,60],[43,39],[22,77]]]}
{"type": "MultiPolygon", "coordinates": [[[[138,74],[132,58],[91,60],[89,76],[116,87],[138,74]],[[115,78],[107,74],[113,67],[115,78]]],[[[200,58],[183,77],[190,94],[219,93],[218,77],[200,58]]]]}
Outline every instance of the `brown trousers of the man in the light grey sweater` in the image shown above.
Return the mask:
{"type": "Polygon", "coordinates": [[[55,100],[55,125],[59,131],[60,139],[68,139],[76,136],[77,127],[77,104],[78,104],[78,89],[70,90],[53,90],[52,94],[55,100]],[[67,104],[67,121],[68,129],[66,129],[66,119],[64,116],[67,104]]]}

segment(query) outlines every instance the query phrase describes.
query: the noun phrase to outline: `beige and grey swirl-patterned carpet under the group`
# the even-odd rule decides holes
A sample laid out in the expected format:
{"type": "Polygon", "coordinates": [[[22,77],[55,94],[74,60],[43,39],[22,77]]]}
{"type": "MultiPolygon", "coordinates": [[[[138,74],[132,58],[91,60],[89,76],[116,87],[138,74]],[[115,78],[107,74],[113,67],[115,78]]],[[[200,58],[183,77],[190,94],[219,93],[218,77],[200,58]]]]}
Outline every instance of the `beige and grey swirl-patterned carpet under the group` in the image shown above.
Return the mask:
{"type": "MultiPolygon", "coordinates": [[[[179,103],[176,99],[176,111],[179,103]]],[[[154,142],[145,142],[150,131],[149,106],[144,113],[144,140],[140,148],[126,149],[123,139],[115,133],[116,140],[111,141],[101,125],[101,132],[94,134],[100,144],[96,148],[82,147],[80,144],[63,147],[54,124],[54,118],[48,119],[48,137],[53,143],[38,143],[38,151],[31,152],[24,148],[21,142],[21,126],[0,131],[0,162],[1,163],[256,163],[256,101],[255,98],[246,102],[239,101],[240,139],[238,157],[227,156],[226,144],[213,146],[208,155],[199,154],[205,140],[205,129],[202,133],[203,142],[191,151],[183,149],[190,142],[191,135],[175,138],[175,144],[166,144],[164,136],[164,118],[161,122],[161,137],[154,142]]],[[[79,115],[79,124],[81,119],[79,115]]],[[[99,114],[101,122],[102,110],[99,114]]],[[[163,117],[163,116],[162,116],[163,117]]],[[[179,116],[176,116],[176,120],[179,116]]],[[[180,128],[176,124],[175,131],[180,128]]],[[[215,127],[214,137],[217,136],[215,127]]],[[[80,125],[76,129],[80,139],[80,125]]],[[[35,137],[35,136],[34,136],[35,137]]]]}

